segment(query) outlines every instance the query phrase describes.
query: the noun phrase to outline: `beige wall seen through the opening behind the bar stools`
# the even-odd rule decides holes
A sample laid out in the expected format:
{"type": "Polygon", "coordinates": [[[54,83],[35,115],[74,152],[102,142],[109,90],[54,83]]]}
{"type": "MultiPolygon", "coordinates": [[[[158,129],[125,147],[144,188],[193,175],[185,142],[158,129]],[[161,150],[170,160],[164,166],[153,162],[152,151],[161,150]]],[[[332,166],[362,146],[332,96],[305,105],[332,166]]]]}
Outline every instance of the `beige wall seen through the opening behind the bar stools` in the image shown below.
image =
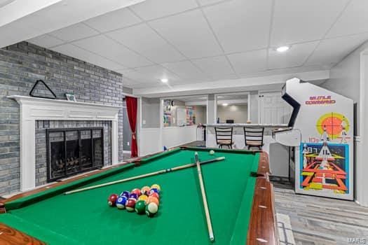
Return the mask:
{"type": "Polygon", "coordinates": [[[217,106],[217,117],[221,123],[225,123],[226,119],[234,120],[234,123],[247,123],[248,118],[247,105],[241,106],[217,106]]]}

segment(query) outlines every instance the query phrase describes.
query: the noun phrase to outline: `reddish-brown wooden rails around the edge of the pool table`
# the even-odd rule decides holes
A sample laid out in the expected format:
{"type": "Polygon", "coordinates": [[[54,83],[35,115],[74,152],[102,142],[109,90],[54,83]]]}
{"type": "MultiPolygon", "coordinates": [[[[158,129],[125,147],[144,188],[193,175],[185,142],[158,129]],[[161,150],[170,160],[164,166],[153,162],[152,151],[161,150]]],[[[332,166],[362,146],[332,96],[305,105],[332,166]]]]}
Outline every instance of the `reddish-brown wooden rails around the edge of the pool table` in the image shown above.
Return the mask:
{"type": "MultiPolygon", "coordinates": [[[[256,152],[253,152],[256,153],[256,152]]],[[[268,174],[270,172],[269,163],[268,163],[268,154],[263,151],[257,152],[260,154],[259,156],[259,165],[257,172],[257,181],[254,187],[254,197],[252,204],[252,214],[250,216],[250,223],[248,226],[247,232],[247,241],[248,245],[255,244],[279,244],[278,240],[278,230],[277,230],[277,222],[275,217],[274,210],[274,198],[273,198],[273,186],[272,183],[268,179],[268,174]]],[[[138,158],[137,160],[133,160],[135,165],[140,165],[140,160],[144,158],[138,158]]],[[[70,183],[72,181],[77,181],[79,179],[83,179],[87,176],[93,176],[94,174],[100,174],[101,172],[107,171],[114,167],[120,167],[122,165],[126,165],[131,162],[123,162],[119,165],[114,165],[111,167],[107,167],[104,169],[99,169],[95,172],[90,172],[88,174],[81,174],[80,176],[76,176],[74,178],[66,179],[64,181],[60,181],[57,183],[50,184],[48,186],[43,186],[41,188],[36,188],[34,190],[29,190],[25,193],[20,193],[18,195],[14,195],[13,197],[9,197],[6,200],[1,200],[0,202],[0,215],[6,213],[5,204],[6,202],[11,202],[13,200],[18,200],[22,197],[27,197],[29,195],[34,195],[36,193],[41,193],[45,190],[49,190],[50,188],[55,188],[57,186],[62,186],[66,183],[70,183]]],[[[41,245],[46,244],[39,239],[26,235],[19,230],[9,227],[3,223],[0,223],[0,244],[9,244],[9,245],[41,245]]]]}

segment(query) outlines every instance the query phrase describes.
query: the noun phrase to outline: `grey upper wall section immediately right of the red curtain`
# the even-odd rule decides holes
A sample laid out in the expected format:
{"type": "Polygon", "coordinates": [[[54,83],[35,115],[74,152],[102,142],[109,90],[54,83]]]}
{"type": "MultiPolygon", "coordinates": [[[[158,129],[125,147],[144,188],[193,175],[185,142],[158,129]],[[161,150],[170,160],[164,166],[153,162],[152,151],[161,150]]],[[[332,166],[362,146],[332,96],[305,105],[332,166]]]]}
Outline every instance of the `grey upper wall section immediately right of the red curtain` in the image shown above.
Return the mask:
{"type": "Polygon", "coordinates": [[[160,127],[160,99],[142,97],[142,127],[160,127]]]}

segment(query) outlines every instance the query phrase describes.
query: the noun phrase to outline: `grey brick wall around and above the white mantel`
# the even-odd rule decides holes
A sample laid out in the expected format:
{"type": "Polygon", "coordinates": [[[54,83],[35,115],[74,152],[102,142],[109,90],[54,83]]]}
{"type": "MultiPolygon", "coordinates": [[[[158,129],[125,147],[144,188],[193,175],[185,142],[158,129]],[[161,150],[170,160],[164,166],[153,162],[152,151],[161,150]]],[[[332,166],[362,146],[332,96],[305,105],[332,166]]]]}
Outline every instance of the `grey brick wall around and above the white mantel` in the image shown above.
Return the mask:
{"type": "MultiPolygon", "coordinates": [[[[37,79],[58,99],[122,106],[120,73],[22,42],[0,49],[0,195],[20,189],[19,105],[8,95],[28,95],[37,79]]],[[[123,160],[123,111],[118,114],[119,160],[123,160]]]]}

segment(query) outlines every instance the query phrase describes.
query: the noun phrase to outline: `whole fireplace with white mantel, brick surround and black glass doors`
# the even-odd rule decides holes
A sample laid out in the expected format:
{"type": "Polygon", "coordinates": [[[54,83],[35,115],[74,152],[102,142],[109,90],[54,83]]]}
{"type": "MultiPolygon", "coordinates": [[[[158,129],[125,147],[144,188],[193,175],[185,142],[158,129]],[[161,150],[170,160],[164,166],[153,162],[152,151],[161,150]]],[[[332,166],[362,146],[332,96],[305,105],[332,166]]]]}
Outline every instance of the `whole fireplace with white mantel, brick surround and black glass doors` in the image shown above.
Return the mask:
{"type": "Polygon", "coordinates": [[[9,98],[20,104],[20,190],[118,163],[120,107],[20,95],[9,98]],[[48,148],[52,142],[61,150],[52,152],[48,148]],[[53,175],[50,169],[57,167],[59,172],[53,175]]]}

